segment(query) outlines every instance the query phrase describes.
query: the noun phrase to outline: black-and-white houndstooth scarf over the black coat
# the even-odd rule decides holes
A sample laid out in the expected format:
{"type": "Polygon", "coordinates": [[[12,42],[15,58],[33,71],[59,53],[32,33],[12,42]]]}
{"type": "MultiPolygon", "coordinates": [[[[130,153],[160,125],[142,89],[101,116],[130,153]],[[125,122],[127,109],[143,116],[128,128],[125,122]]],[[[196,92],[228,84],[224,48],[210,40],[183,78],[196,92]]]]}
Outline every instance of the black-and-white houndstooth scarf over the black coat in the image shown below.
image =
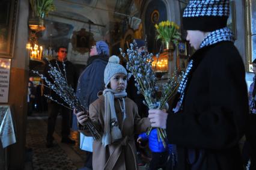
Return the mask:
{"type": "MultiPolygon", "coordinates": [[[[221,41],[234,42],[233,33],[230,31],[229,28],[225,27],[225,28],[217,29],[213,32],[210,32],[210,34],[208,34],[207,37],[204,38],[204,40],[202,41],[200,45],[200,49],[203,47],[207,47],[207,46],[219,43],[221,41]]],[[[178,93],[180,93],[180,98],[178,100],[176,107],[172,110],[174,111],[174,113],[177,113],[183,108],[184,92],[187,87],[187,82],[189,80],[189,77],[191,77],[190,74],[192,74],[192,68],[195,69],[196,67],[194,63],[195,63],[194,59],[190,59],[189,64],[187,64],[186,71],[183,74],[182,80],[180,82],[180,86],[178,87],[178,93]]]]}

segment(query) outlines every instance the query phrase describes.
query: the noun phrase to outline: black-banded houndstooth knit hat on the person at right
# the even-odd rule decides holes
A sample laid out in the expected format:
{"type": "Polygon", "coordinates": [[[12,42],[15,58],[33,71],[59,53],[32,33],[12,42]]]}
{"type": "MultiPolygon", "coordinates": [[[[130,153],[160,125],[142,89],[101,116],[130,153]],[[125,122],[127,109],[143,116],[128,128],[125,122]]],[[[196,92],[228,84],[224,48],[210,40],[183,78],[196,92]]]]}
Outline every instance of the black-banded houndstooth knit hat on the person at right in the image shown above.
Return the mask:
{"type": "Polygon", "coordinates": [[[183,28],[206,32],[224,28],[230,14],[229,5],[229,0],[191,0],[183,13],[183,28]]]}

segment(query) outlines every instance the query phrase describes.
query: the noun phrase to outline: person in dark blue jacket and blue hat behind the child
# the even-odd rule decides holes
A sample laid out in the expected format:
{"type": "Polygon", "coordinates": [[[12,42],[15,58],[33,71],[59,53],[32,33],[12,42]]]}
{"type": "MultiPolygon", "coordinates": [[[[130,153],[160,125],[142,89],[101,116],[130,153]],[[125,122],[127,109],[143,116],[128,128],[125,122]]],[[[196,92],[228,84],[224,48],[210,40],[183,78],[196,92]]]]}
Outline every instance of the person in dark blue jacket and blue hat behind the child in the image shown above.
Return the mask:
{"type": "MultiPolygon", "coordinates": [[[[89,108],[91,103],[98,99],[98,92],[104,90],[104,70],[106,65],[108,64],[108,59],[108,44],[106,44],[105,41],[97,41],[96,45],[91,47],[90,57],[87,61],[87,67],[79,77],[78,87],[76,89],[76,96],[78,97],[81,105],[83,105],[86,109],[89,108]]],[[[73,120],[76,120],[77,122],[75,115],[73,115],[73,120]]],[[[91,138],[82,135],[82,133],[80,136],[81,141],[84,138],[91,138]]],[[[92,147],[92,145],[88,146],[90,145],[88,143],[81,143],[81,149],[83,149],[83,145],[87,145],[87,147],[92,147]]],[[[84,169],[93,169],[92,160],[93,154],[90,151],[87,151],[87,160],[84,169]]]]}

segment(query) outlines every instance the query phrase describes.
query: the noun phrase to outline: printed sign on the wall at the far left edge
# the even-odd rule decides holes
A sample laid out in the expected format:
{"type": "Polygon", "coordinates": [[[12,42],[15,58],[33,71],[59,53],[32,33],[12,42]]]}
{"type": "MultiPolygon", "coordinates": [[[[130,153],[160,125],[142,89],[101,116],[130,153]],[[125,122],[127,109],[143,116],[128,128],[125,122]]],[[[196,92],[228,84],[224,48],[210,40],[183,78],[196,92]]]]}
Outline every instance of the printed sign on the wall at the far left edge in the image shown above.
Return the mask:
{"type": "Polygon", "coordinates": [[[9,96],[11,59],[0,58],[0,103],[7,103],[9,96]]]}

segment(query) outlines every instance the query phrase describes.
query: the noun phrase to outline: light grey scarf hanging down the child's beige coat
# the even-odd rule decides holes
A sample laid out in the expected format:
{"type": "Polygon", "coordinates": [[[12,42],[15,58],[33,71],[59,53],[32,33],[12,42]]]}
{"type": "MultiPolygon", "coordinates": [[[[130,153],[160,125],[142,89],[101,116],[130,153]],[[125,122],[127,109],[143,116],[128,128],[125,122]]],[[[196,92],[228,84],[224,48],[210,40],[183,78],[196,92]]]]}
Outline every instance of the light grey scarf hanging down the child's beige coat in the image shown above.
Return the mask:
{"type": "Polygon", "coordinates": [[[118,93],[117,91],[106,88],[103,91],[103,95],[105,97],[105,115],[104,115],[105,125],[104,125],[104,133],[102,136],[102,144],[104,145],[104,147],[106,147],[106,145],[112,144],[112,142],[115,142],[118,139],[121,139],[123,137],[121,130],[118,127],[117,115],[115,113],[114,99],[121,98],[123,100],[123,107],[124,107],[123,121],[124,121],[124,119],[126,118],[126,112],[125,112],[126,106],[125,106],[123,97],[126,97],[127,93],[125,91],[118,93]]]}

